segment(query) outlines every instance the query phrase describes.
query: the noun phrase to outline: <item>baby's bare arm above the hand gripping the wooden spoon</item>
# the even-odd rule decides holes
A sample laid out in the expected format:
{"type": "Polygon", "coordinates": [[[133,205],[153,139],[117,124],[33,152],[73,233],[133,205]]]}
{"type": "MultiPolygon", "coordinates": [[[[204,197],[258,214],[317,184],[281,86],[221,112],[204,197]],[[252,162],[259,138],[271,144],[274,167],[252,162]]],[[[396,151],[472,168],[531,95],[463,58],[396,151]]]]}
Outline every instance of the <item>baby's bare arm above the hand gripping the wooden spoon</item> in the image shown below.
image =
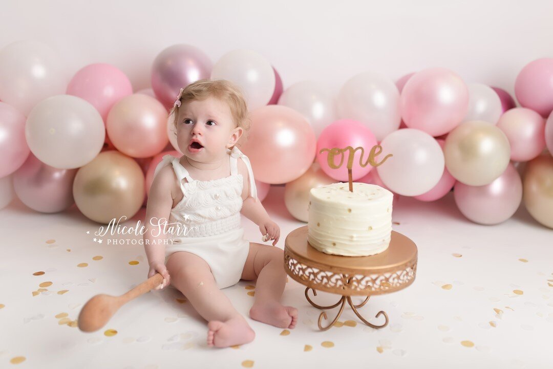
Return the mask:
{"type": "Polygon", "coordinates": [[[146,204],[146,219],[144,232],[144,250],[148,257],[148,263],[165,262],[166,235],[163,232],[164,225],[168,223],[173,196],[171,188],[175,182],[175,175],[170,166],[161,168],[155,176],[150,187],[148,203],[146,204]],[[160,224],[158,226],[158,224],[160,224]]]}

